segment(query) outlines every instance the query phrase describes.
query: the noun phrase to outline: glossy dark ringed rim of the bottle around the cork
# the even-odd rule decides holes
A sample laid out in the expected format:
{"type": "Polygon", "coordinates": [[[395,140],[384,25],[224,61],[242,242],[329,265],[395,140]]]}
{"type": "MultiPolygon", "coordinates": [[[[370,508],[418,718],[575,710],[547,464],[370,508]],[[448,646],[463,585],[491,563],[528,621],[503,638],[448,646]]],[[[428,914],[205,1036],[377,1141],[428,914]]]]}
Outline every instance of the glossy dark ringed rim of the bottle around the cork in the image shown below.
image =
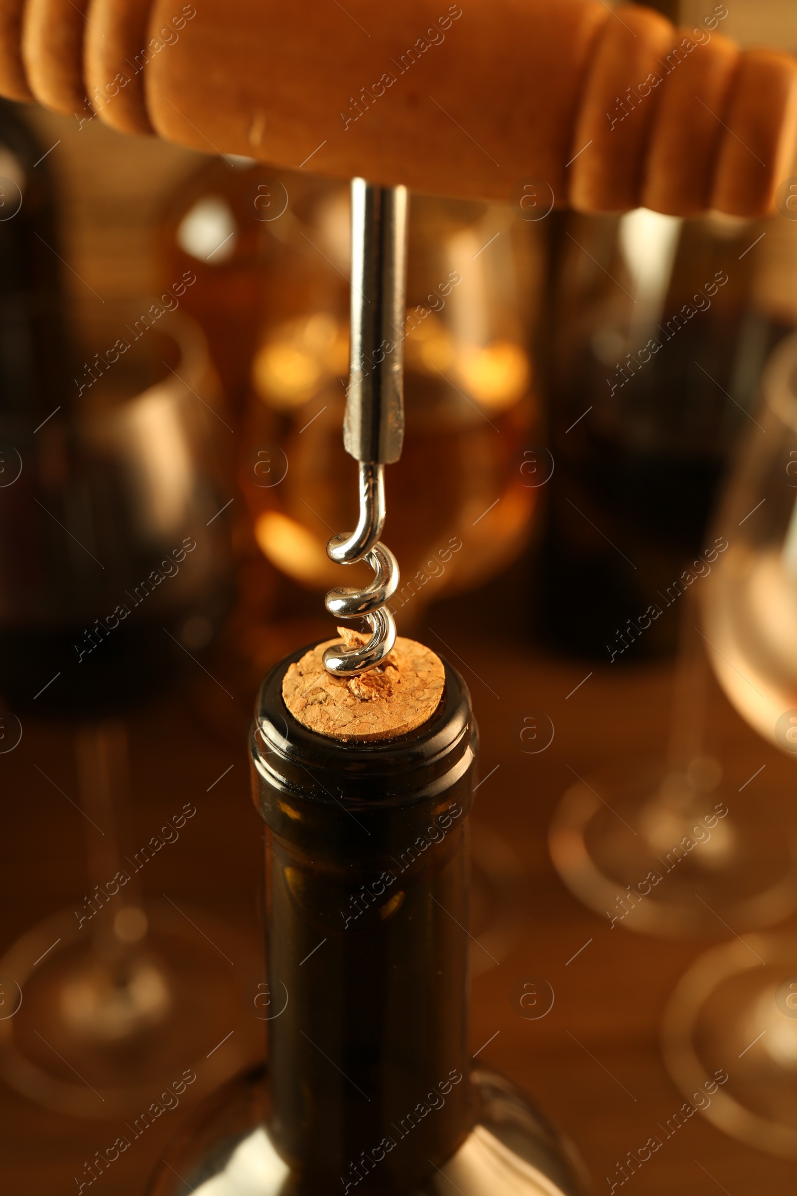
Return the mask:
{"type": "Polygon", "coordinates": [[[250,740],[260,782],[289,798],[362,810],[437,797],[465,774],[478,732],[467,685],[447,660],[443,694],[427,722],[393,739],[344,743],[302,726],[282,697],[288,667],[313,647],[286,657],[260,687],[250,740]]]}

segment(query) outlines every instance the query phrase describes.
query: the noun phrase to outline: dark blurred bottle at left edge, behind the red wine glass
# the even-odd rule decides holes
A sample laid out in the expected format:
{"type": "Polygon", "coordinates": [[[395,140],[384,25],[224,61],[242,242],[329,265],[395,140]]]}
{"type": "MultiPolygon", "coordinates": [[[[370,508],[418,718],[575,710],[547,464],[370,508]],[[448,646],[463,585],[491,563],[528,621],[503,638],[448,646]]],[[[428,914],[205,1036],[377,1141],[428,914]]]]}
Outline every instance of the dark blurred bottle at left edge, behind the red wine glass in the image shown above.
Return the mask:
{"type": "Polygon", "coordinates": [[[57,255],[45,148],[0,100],[0,411],[45,415],[68,393],[57,255]]]}

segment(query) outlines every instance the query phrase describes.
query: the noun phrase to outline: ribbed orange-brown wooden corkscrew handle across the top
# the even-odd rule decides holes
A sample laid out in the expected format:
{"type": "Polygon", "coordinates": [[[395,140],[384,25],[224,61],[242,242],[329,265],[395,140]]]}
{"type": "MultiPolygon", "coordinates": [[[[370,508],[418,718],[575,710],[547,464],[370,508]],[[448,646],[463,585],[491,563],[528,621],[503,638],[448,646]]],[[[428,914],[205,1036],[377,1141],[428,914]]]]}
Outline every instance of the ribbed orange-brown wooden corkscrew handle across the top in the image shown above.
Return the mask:
{"type": "Polygon", "coordinates": [[[0,92],[281,167],[586,212],[772,209],[797,63],[600,0],[0,0],[0,92]],[[542,193],[540,193],[542,194],[542,193]],[[547,194],[547,193],[545,193],[547,194]]]}

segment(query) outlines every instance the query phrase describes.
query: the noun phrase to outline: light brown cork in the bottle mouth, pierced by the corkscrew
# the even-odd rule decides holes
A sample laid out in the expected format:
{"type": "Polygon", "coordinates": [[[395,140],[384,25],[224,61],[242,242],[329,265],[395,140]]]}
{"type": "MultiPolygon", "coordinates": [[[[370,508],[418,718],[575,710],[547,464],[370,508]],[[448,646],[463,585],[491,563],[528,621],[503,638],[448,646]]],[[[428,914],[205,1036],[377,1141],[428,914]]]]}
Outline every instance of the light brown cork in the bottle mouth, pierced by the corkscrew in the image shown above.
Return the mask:
{"type": "Polygon", "coordinates": [[[360,647],[367,636],[345,627],[338,633],[284,675],[282,697],[299,722],[330,739],[362,743],[394,739],[431,718],[446,684],[442,661],[431,648],[399,636],[381,665],[347,681],[327,673],[324,651],[341,640],[360,647]]]}

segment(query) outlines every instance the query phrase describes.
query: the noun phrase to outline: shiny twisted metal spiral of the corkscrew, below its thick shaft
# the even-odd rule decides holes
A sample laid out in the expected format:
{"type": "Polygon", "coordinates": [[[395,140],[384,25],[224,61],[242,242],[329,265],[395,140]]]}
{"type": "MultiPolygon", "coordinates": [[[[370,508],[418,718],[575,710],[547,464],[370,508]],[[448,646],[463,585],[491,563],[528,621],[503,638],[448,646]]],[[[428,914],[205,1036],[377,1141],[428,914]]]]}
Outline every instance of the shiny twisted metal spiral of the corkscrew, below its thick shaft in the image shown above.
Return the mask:
{"type": "Polygon", "coordinates": [[[327,672],[338,677],[357,677],[380,664],[396,643],[396,622],[387,603],[396,593],[399,568],[390,548],[379,542],[385,523],[385,466],[360,465],[360,520],[350,536],[333,536],[326,545],[338,565],[367,561],[374,580],[364,590],[341,586],[330,590],[326,609],[339,618],[361,616],[370,628],[370,639],[360,648],[342,643],[324,653],[327,672]]]}

